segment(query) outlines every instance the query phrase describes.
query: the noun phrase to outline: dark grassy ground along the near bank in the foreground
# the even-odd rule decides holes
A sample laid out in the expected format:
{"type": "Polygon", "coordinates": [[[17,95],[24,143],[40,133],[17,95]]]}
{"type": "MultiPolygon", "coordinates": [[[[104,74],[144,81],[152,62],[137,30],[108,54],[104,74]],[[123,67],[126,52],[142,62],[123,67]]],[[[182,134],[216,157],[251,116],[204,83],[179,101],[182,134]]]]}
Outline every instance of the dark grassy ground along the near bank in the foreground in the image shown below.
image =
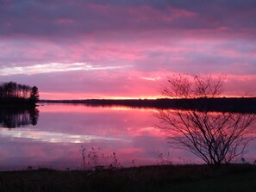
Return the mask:
{"type": "Polygon", "coordinates": [[[0,191],[256,191],[256,167],[161,165],[119,170],[0,172],[0,191]]]}

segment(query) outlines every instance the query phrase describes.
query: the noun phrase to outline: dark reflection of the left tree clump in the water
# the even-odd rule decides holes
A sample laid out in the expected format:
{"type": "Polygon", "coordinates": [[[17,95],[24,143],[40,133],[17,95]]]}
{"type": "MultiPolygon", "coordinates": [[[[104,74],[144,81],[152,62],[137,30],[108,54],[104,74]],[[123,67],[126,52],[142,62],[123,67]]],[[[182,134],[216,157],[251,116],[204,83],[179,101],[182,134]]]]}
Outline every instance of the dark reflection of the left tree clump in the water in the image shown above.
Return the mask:
{"type": "Polygon", "coordinates": [[[7,128],[36,125],[39,117],[37,108],[0,108],[0,126],[7,128]]]}

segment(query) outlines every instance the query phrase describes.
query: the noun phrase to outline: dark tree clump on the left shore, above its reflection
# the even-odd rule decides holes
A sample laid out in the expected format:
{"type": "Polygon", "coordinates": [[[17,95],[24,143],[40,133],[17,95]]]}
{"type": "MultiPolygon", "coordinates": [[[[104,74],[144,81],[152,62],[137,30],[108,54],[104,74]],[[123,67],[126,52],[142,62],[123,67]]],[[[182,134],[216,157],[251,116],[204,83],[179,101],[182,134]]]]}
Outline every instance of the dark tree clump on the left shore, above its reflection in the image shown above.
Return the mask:
{"type": "Polygon", "coordinates": [[[36,86],[30,87],[15,82],[0,84],[0,105],[35,105],[36,102],[39,102],[36,86]]]}

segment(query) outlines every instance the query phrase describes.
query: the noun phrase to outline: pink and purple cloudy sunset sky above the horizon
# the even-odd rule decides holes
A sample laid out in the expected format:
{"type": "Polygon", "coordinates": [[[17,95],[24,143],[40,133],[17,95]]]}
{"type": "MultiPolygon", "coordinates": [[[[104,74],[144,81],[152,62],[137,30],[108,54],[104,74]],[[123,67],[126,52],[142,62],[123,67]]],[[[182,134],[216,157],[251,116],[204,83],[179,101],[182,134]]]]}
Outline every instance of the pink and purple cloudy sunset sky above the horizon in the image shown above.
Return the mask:
{"type": "Polygon", "coordinates": [[[0,0],[0,82],[41,99],[154,98],[167,76],[212,74],[225,96],[251,96],[255,20],[255,0],[0,0]]]}

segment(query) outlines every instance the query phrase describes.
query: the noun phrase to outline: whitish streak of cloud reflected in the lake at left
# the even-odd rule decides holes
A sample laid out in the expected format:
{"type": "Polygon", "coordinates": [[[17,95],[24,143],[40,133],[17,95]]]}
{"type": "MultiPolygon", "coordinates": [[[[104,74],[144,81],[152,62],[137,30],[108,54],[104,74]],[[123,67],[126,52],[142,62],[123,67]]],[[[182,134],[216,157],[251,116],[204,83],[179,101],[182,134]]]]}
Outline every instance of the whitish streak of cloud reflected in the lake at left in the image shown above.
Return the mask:
{"type": "Polygon", "coordinates": [[[105,141],[122,141],[130,142],[127,139],[103,137],[96,135],[79,135],[71,133],[53,133],[47,131],[31,131],[29,129],[22,130],[2,130],[0,137],[10,137],[19,139],[34,139],[48,143],[90,143],[92,140],[105,140],[105,141]]]}

